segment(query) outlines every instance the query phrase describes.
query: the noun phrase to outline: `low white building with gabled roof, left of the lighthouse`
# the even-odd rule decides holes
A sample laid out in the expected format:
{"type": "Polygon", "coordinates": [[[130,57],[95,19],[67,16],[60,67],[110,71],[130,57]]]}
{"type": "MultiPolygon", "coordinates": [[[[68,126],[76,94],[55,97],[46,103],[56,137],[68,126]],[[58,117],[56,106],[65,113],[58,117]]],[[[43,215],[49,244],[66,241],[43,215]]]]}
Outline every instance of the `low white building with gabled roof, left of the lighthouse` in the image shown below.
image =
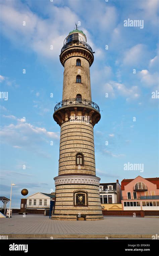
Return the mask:
{"type": "Polygon", "coordinates": [[[46,194],[37,192],[27,197],[27,209],[49,209],[50,201],[55,200],[55,193],[46,194]]]}

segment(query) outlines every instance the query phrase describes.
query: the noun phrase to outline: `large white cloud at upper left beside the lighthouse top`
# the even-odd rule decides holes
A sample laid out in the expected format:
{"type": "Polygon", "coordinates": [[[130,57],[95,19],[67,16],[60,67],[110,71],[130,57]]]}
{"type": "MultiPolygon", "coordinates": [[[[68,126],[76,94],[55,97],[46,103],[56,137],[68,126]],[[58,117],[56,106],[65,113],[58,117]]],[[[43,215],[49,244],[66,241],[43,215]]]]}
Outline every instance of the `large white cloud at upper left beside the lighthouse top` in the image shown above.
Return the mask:
{"type": "Polygon", "coordinates": [[[37,54],[47,58],[58,58],[57,52],[60,52],[66,37],[65,31],[68,33],[68,28],[77,20],[76,14],[66,6],[50,5],[52,17],[47,19],[38,17],[26,4],[20,2],[16,5],[4,2],[0,8],[1,27],[5,36],[15,45],[27,45],[37,54]],[[50,45],[53,45],[53,50],[50,45]]]}

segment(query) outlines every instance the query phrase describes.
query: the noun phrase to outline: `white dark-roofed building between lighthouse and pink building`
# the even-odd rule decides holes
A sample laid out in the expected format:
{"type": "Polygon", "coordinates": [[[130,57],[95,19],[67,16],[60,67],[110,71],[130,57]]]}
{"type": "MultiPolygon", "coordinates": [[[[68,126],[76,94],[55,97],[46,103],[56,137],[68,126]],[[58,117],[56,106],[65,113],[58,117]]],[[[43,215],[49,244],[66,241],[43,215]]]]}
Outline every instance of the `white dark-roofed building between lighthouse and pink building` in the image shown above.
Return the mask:
{"type": "Polygon", "coordinates": [[[99,193],[101,203],[121,203],[121,186],[116,183],[100,183],[99,193]]]}

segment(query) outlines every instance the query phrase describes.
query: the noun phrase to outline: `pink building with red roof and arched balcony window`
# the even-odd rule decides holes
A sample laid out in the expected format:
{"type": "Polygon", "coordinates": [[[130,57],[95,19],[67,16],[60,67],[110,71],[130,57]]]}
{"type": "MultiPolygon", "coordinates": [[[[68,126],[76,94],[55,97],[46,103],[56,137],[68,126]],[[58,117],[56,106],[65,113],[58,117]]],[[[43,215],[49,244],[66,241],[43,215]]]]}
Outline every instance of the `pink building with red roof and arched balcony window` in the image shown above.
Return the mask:
{"type": "Polygon", "coordinates": [[[121,193],[122,210],[159,210],[159,178],[124,179],[121,193]]]}

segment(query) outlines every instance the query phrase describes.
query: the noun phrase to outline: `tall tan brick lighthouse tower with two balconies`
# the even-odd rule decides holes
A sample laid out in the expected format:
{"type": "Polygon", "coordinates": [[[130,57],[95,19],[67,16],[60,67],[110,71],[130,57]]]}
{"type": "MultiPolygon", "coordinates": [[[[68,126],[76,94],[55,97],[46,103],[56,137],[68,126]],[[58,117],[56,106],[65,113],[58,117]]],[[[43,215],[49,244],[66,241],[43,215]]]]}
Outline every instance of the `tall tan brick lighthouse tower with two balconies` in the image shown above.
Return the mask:
{"type": "Polygon", "coordinates": [[[60,54],[64,74],[62,101],[53,114],[61,128],[53,220],[103,219],[93,134],[100,112],[91,97],[94,55],[86,41],[83,31],[76,28],[64,40],[60,54]]]}

